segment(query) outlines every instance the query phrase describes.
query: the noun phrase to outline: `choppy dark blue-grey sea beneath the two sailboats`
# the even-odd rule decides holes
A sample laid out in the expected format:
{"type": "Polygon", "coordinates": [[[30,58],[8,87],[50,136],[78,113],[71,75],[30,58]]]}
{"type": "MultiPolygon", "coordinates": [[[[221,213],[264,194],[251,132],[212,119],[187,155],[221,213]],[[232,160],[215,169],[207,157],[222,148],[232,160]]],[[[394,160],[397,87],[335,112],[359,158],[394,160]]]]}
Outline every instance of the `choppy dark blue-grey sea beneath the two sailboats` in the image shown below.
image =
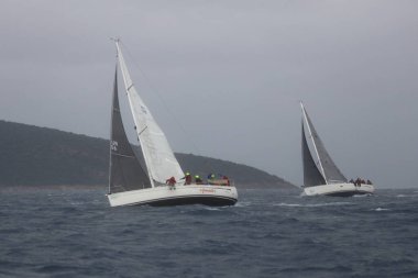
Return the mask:
{"type": "Polygon", "coordinates": [[[241,189],[222,208],[110,208],[106,188],[0,193],[0,277],[418,277],[418,188],[241,189]]]}

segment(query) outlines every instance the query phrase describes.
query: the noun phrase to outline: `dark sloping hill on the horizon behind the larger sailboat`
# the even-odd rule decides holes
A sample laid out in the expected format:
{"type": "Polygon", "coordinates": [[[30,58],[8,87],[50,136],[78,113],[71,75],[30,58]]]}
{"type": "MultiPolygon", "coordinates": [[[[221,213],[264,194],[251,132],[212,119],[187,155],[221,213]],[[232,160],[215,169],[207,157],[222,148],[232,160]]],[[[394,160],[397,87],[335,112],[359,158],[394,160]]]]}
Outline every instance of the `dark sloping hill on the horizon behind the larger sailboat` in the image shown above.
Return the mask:
{"type": "MultiPolygon", "coordinates": [[[[0,186],[108,184],[108,140],[0,121],[0,186]]],[[[176,157],[194,175],[227,175],[237,187],[293,187],[250,166],[193,154],[176,157]]]]}

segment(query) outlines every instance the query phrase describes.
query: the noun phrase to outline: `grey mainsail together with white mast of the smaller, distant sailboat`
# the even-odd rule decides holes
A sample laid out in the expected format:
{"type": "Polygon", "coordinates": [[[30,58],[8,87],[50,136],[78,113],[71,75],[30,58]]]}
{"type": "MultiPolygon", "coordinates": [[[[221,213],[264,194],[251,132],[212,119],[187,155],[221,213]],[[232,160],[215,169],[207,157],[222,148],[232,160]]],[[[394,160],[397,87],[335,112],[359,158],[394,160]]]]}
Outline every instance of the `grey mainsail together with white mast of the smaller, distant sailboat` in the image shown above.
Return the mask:
{"type": "Polygon", "coordinates": [[[337,167],[331,156],[328,154],[321,138],[319,137],[317,131],[312,125],[312,122],[310,121],[308,113],[305,110],[305,107],[301,103],[300,105],[302,109],[304,119],[306,121],[310,134],[310,138],[312,141],[314,148],[318,156],[317,167],[319,173],[322,175],[327,184],[346,182],[346,178],[344,177],[344,175],[341,174],[340,169],[337,167]]]}

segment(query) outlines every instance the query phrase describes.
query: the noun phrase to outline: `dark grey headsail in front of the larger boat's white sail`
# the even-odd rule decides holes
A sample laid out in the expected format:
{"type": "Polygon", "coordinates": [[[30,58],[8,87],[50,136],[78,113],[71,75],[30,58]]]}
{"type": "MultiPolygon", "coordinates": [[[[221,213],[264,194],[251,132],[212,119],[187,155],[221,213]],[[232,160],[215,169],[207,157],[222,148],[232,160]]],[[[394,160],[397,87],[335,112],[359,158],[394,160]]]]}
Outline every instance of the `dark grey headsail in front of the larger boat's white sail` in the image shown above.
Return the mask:
{"type": "Polygon", "coordinates": [[[151,187],[150,178],[141,167],[123,129],[118,98],[117,73],[118,69],[114,74],[111,116],[109,193],[151,187]]]}

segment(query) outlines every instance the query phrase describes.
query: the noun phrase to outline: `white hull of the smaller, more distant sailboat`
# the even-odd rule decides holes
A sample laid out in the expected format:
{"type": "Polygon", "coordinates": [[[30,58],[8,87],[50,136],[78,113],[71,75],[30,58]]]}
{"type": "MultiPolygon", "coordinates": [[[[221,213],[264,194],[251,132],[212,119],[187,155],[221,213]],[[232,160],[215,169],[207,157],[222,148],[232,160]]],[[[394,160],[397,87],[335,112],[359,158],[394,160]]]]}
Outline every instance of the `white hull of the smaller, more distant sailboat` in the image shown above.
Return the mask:
{"type": "Polygon", "coordinates": [[[374,192],[373,185],[354,186],[354,184],[330,184],[316,187],[304,188],[306,196],[336,196],[350,197],[354,194],[372,194],[374,192]]]}

